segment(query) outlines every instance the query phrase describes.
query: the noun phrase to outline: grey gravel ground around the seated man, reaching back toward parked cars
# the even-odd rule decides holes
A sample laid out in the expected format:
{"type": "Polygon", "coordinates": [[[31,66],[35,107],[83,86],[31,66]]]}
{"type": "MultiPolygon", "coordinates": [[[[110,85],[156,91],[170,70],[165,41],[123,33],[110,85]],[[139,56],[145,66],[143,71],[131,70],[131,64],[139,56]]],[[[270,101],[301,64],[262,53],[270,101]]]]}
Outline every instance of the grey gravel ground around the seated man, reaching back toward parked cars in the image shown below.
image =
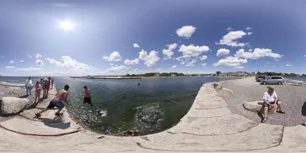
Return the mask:
{"type": "MultiPolygon", "coordinates": [[[[260,114],[244,109],[243,102],[263,100],[264,92],[269,85],[260,85],[255,78],[246,78],[236,81],[223,82],[222,88],[233,90],[235,97],[224,99],[232,113],[240,114],[250,120],[261,122],[260,114]]],[[[270,85],[271,86],[271,85],[270,85]]],[[[285,105],[286,114],[268,114],[266,123],[295,126],[306,121],[306,87],[285,85],[272,85],[277,98],[285,105]]]]}

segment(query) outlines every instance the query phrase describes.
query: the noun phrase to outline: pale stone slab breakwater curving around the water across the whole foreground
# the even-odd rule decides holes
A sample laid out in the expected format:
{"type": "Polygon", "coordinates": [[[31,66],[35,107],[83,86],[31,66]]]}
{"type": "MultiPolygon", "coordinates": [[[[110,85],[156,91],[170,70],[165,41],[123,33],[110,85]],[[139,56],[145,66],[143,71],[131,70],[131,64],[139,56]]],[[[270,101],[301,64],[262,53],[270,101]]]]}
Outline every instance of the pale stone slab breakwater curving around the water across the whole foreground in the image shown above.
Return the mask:
{"type": "MultiPolygon", "coordinates": [[[[219,83],[203,84],[190,111],[177,125],[164,132],[142,137],[99,135],[81,127],[78,129],[71,120],[69,126],[58,126],[69,121],[68,114],[67,118],[63,119],[65,122],[43,122],[34,120],[32,116],[25,115],[27,113],[24,112],[21,115],[23,117],[0,122],[0,125],[5,128],[0,128],[0,149],[11,151],[47,149],[48,152],[63,150],[86,152],[306,150],[304,144],[306,127],[257,123],[239,114],[233,114],[227,108],[227,103],[218,95],[215,89],[217,87],[222,89],[219,83]],[[64,129],[75,127],[78,129],[75,133],[67,132],[62,136],[45,137],[47,134],[55,135],[54,132],[59,134],[64,129]]],[[[235,96],[230,90],[220,95],[235,96]]],[[[33,110],[28,114],[34,112],[33,110]]],[[[53,113],[55,112],[50,112],[49,115],[43,113],[42,117],[47,115],[52,118],[53,113]]]]}

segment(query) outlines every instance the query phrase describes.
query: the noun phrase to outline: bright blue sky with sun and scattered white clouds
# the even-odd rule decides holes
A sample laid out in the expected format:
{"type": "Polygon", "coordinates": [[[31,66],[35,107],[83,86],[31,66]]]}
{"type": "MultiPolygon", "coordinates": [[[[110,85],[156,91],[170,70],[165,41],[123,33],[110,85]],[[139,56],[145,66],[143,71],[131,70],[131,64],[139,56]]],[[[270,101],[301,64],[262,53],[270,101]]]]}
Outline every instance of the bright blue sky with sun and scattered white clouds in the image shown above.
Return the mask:
{"type": "Polygon", "coordinates": [[[0,1],[5,76],[306,73],[306,1],[0,1]]]}

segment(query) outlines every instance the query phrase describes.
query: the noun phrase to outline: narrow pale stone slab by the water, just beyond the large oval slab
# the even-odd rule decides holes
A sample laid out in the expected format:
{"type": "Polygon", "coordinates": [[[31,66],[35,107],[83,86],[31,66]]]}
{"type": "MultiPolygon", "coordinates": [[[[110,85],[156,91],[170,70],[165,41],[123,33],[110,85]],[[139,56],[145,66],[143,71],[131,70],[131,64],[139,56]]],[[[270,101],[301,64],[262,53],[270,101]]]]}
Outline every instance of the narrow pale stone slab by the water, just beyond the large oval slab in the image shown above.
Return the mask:
{"type": "Polygon", "coordinates": [[[217,117],[231,114],[231,111],[227,107],[218,108],[218,109],[210,109],[210,110],[197,110],[190,109],[189,112],[181,119],[183,121],[188,121],[191,118],[199,118],[199,117],[217,117]]]}

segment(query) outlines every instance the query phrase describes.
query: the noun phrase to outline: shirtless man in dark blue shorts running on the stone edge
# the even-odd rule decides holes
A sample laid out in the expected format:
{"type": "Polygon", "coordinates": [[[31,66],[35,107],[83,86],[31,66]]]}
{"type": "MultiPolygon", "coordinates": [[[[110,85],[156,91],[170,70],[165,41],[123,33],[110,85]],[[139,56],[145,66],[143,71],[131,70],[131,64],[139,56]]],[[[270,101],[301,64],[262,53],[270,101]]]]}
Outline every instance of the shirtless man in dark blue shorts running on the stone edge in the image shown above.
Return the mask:
{"type": "Polygon", "coordinates": [[[50,101],[49,106],[43,109],[41,112],[36,113],[37,117],[41,116],[41,113],[47,111],[48,109],[53,109],[54,107],[59,108],[59,110],[55,113],[55,115],[63,115],[60,111],[65,107],[62,101],[69,105],[67,101],[69,85],[65,85],[64,89],[60,90],[58,93],[55,94],[55,97],[50,101]]]}

